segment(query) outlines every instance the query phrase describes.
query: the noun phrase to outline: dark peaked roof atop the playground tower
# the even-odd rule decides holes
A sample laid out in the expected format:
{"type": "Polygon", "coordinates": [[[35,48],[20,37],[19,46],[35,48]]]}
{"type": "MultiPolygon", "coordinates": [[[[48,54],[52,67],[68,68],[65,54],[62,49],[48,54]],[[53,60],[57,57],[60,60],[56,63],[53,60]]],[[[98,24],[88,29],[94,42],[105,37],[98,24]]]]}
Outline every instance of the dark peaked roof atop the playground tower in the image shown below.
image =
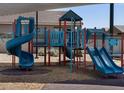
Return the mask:
{"type": "Polygon", "coordinates": [[[82,18],[77,15],[75,12],[72,10],[69,10],[66,12],[62,17],[59,18],[59,21],[81,21],[82,18]]]}

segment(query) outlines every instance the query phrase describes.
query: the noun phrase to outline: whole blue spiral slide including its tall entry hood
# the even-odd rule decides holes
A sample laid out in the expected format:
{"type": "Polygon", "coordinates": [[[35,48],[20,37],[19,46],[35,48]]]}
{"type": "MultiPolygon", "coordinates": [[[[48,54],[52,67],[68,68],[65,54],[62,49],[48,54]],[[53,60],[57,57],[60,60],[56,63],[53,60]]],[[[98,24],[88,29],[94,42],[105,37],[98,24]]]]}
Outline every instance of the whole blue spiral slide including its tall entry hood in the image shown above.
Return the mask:
{"type": "Polygon", "coordinates": [[[31,69],[34,64],[33,54],[22,51],[21,45],[29,42],[34,36],[34,18],[19,17],[16,21],[15,38],[7,41],[6,49],[11,55],[19,57],[19,67],[21,69],[31,69]],[[29,21],[29,33],[22,35],[21,21],[29,21]]]}

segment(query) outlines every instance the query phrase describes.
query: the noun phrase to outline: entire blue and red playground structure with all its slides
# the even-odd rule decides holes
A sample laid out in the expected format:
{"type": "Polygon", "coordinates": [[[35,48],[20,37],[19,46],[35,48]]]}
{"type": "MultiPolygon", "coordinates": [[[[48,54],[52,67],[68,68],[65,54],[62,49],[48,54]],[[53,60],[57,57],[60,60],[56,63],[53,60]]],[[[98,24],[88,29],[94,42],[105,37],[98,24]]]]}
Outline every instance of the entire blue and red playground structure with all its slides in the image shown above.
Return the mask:
{"type": "MultiPolygon", "coordinates": [[[[83,69],[87,69],[87,61],[86,61],[86,54],[87,52],[90,54],[91,59],[94,64],[94,70],[98,70],[103,74],[122,74],[124,62],[123,62],[123,35],[122,35],[122,53],[121,53],[121,67],[118,67],[106,51],[105,47],[105,39],[107,37],[104,29],[82,29],[81,24],[82,18],[73,13],[73,11],[67,12],[63,15],[59,20],[59,30],[50,30],[44,29],[42,34],[44,36],[44,40],[40,42],[33,43],[33,36],[34,36],[34,20],[33,18],[25,18],[19,17],[15,21],[15,37],[14,39],[7,42],[7,50],[12,54],[19,57],[19,65],[21,68],[31,68],[34,64],[33,59],[33,46],[44,47],[44,64],[47,65],[46,62],[46,48],[48,47],[48,65],[51,65],[50,62],[50,48],[51,47],[59,47],[59,64],[62,64],[61,61],[61,54],[63,50],[63,62],[66,65],[66,57],[70,59],[69,65],[70,70],[73,70],[73,64],[76,64],[76,68],[78,69],[79,63],[83,63],[83,69]],[[71,15],[71,16],[70,16],[71,15]],[[75,17],[76,16],[76,17],[75,17]],[[21,20],[29,20],[29,34],[23,35],[21,34],[21,20]],[[62,21],[64,21],[64,27],[62,26],[62,21]],[[67,26],[67,21],[71,22],[71,26],[67,26]],[[76,22],[79,21],[80,25],[77,26],[76,22]],[[70,29],[70,30],[68,30],[70,29]],[[88,46],[88,40],[90,37],[93,36],[94,38],[94,46],[91,48],[88,46]],[[102,48],[97,48],[97,36],[102,37],[102,48]],[[21,51],[21,45],[28,43],[28,53],[21,51]],[[84,50],[84,60],[81,60],[81,57],[78,56],[78,50],[84,50]],[[24,56],[22,56],[22,54],[24,56]],[[28,58],[29,57],[29,58],[28,58]],[[75,57],[77,60],[75,60],[75,57]]],[[[36,35],[37,37],[37,35],[36,35]]],[[[117,44],[117,39],[110,38],[108,40],[111,45],[117,44]]],[[[36,52],[37,53],[37,52],[36,52]]],[[[15,58],[13,56],[13,64],[15,58]]]]}

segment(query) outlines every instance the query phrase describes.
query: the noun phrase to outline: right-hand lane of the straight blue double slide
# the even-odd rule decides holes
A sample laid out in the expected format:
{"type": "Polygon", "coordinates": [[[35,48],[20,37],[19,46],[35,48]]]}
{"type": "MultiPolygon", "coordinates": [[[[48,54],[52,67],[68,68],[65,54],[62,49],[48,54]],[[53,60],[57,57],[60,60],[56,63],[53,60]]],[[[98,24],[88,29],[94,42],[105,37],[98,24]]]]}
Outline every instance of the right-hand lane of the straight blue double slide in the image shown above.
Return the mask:
{"type": "Polygon", "coordinates": [[[101,48],[99,50],[99,54],[101,55],[102,59],[104,60],[105,64],[112,68],[112,70],[114,71],[114,73],[116,74],[122,74],[123,73],[123,69],[119,66],[117,66],[114,61],[112,60],[112,58],[110,57],[110,55],[108,54],[108,52],[106,51],[105,48],[101,48]]]}

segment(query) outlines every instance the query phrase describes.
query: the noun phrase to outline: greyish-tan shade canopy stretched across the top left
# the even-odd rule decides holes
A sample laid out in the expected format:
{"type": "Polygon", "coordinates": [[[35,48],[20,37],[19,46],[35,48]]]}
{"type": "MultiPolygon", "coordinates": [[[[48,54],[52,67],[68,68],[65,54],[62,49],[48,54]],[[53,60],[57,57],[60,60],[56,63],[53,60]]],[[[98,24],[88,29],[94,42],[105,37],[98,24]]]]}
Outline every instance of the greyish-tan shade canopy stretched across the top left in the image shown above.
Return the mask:
{"type": "Polygon", "coordinates": [[[0,16],[91,5],[87,3],[0,3],[0,16]]]}

